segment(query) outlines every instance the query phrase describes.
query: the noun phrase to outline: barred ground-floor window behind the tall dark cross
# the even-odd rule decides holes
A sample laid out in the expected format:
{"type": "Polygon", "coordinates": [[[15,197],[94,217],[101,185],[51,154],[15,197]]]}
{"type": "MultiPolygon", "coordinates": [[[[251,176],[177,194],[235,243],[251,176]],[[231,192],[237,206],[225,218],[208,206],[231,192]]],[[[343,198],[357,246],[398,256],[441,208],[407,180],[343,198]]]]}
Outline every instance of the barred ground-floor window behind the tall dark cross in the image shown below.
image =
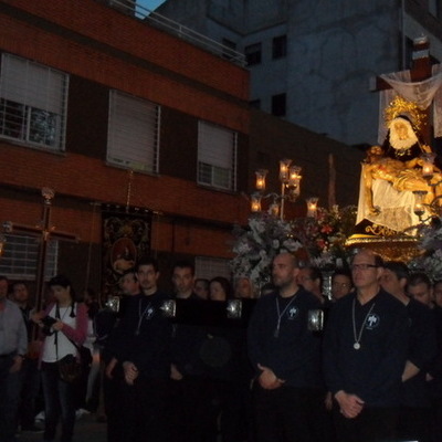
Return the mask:
{"type": "MultiPolygon", "coordinates": [[[[0,275],[10,280],[34,281],[36,275],[39,241],[35,236],[4,234],[6,243],[0,260],[0,275]]],[[[50,241],[46,252],[45,280],[57,273],[59,242],[50,241]]]]}

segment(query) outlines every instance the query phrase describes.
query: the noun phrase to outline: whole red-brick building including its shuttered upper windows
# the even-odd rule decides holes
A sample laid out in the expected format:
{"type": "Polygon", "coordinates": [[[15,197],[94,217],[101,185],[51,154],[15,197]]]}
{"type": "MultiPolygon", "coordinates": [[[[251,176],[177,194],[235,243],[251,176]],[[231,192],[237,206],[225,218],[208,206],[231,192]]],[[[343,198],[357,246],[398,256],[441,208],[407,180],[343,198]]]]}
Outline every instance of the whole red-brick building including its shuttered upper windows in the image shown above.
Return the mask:
{"type": "MultiPolygon", "coordinates": [[[[249,213],[249,73],[94,0],[1,1],[0,28],[0,220],[38,223],[54,189],[52,225],[81,241],[51,256],[77,290],[101,286],[103,208],[146,212],[164,269],[230,257],[249,213]]],[[[11,249],[0,273],[31,280],[35,243],[11,249]]]]}

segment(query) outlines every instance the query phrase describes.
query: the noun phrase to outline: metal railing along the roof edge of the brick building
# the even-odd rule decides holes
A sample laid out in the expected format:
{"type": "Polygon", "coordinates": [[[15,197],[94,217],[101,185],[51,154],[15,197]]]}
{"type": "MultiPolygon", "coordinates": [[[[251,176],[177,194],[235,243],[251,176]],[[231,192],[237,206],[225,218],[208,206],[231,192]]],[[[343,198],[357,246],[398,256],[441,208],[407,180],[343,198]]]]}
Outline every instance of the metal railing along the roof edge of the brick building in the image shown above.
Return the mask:
{"type": "MultiPolygon", "coordinates": [[[[103,2],[103,0],[98,0],[103,2]]],[[[161,29],[179,39],[186,40],[196,46],[204,49],[212,54],[221,56],[222,59],[229,60],[240,66],[245,66],[246,61],[244,54],[229,48],[222,43],[219,43],[192,29],[185,27],[176,22],[175,20],[168,19],[158,12],[151,11],[144,6],[137,3],[134,0],[106,0],[109,7],[117,9],[118,11],[131,15],[137,20],[145,21],[152,27],[161,29]]]]}

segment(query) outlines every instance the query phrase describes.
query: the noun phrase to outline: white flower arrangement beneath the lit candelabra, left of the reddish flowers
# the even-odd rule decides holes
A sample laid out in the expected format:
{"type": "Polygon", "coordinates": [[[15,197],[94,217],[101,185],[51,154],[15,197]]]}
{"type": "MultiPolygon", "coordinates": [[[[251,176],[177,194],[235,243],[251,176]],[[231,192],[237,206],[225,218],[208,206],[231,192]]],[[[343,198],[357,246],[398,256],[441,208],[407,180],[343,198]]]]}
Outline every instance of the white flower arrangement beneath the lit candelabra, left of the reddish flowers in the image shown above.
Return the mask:
{"type": "Polygon", "coordinates": [[[269,283],[273,259],[283,251],[293,253],[303,246],[292,230],[290,222],[266,212],[250,217],[246,229],[236,227],[233,231],[236,256],[231,261],[233,274],[249,277],[255,287],[269,283]]]}

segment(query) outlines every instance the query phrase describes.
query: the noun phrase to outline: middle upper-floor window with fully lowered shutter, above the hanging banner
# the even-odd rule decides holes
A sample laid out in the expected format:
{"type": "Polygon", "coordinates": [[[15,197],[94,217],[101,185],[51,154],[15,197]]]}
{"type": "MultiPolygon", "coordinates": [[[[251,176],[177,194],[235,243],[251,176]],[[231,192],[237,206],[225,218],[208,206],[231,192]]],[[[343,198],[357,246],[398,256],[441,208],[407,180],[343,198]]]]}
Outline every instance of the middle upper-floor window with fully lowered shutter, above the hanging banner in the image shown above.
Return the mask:
{"type": "Polygon", "coordinates": [[[107,160],[129,169],[158,172],[160,107],[110,91],[107,160]]]}

